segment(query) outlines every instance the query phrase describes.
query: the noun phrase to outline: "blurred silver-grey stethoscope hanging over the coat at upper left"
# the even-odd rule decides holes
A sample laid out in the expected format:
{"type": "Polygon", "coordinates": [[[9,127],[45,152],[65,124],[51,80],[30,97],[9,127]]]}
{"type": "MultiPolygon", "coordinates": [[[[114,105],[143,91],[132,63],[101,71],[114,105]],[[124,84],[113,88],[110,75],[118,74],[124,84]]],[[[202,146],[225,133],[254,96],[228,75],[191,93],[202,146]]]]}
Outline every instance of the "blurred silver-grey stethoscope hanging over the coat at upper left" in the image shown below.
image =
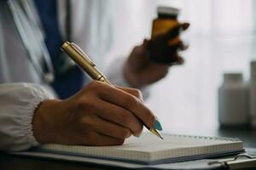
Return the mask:
{"type": "Polygon", "coordinates": [[[15,27],[19,33],[21,42],[26,48],[28,59],[32,62],[34,69],[37,71],[39,77],[42,77],[44,82],[53,82],[55,79],[54,69],[51,63],[48,50],[44,43],[44,36],[38,27],[37,20],[33,14],[31,4],[27,0],[9,0],[8,2],[10,13],[12,14],[15,22],[15,27]],[[20,4],[20,3],[21,4],[20,4]],[[22,7],[20,6],[22,5],[22,7]],[[30,28],[26,27],[22,22],[22,15],[26,13],[26,18],[32,25],[30,28]],[[32,37],[29,38],[27,32],[31,29],[33,33],[32,37]],[[31,42],[32,41],[32,42],[31,42]],[[40,42],[41,41],[41,42],[40,42]],[[37,47],[43,55],[43,62],[45,67],[40,64],[39,59],[33,54],[32,48],[37,47]]]}

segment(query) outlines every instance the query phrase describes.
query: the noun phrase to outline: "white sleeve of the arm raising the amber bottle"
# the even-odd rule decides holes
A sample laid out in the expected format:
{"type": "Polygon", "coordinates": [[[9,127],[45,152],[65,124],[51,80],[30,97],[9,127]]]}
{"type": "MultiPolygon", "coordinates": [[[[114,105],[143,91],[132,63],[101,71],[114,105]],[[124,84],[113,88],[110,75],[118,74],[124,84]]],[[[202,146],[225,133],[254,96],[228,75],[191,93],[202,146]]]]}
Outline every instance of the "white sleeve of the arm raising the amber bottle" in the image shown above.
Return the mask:
{"type": "MultiPolygon", "coordinates": [[[[108,65],[107,69],[107,77],[110,82],[112,82],[114,85],[127,87],[127,88],[133,88],[129,82],[125,80],[124,77],[124,65],[125,65],[126,58],[125,57],[119,57],[117,59],[114,59],[113,62],[108,65]]],[[[140,88],[139,90],[143,93],[143,99],[148,99],[149,97],[149,86],[145,88],[140,88]]]]}

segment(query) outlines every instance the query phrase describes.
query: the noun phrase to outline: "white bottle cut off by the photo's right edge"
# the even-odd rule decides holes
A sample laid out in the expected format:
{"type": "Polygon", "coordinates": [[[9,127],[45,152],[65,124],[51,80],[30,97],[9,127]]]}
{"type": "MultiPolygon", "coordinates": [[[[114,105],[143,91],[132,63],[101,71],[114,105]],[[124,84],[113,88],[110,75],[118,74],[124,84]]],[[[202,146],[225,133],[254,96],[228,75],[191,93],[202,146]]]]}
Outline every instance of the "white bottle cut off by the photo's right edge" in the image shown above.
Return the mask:
{"type": "Polygon", "coordinates": [[[251,126],[256,128],[256,61],[251,61],[250,116],[251,126]]]}

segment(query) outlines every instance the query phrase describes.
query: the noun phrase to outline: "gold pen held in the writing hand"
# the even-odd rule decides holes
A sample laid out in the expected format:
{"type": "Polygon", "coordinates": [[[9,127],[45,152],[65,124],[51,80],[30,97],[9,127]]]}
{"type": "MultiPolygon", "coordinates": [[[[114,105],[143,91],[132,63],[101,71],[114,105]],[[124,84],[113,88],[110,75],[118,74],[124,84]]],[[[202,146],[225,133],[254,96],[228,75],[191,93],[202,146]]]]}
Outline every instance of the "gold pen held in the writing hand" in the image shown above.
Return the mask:
{"type": "MultiPolygon", "coordinates": [[[[64,42],[61,46],[61,50],[65,51],[68,56],[73,59],[73,61],[77,63],[92,79],[106,82],[113,86],[113,84],[108,82],[108,79],[104,77],[102,72],[96,69],[94,62],[83,52],[81,48],[79,48],[78,45],[73,42],[64,42]]],[[[143,125],[147,127],[151,133],[154,133],[154,135],[160,137],[160,139],[163,139],[157,129],[150,128],[145,123],[143,123],[143,125]]]]}

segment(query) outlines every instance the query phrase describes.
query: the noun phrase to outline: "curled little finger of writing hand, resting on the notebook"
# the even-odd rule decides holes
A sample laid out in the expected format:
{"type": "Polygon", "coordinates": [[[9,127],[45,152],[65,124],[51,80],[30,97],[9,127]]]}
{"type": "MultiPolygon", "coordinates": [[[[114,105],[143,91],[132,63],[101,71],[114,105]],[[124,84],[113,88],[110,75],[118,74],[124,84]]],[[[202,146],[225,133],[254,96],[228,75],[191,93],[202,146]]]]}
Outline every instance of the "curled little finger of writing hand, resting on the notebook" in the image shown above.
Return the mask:
{"type": "Polygon", "coordinates": [[[90,132],[87,133],[86,139],[84,139],[84,145],[92,145],[92,146],[105,146],[105,145],[120,145],[124,144],[124,139],[117,139],[102,133],[90,132]]]}

